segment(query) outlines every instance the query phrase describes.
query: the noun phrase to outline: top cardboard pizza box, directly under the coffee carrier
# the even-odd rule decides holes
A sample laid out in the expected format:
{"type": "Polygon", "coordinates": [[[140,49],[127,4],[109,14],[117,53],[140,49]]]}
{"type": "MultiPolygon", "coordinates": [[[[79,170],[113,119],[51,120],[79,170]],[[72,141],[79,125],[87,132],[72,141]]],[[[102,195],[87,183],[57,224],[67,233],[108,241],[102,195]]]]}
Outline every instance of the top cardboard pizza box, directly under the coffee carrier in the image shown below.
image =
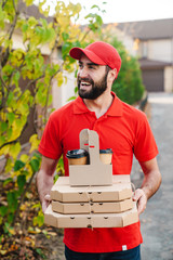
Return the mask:
{"type": "Polygon", "coordinates": [[[51,199],[62,203],[103,203],[120,202],[132,197],[131,183],[114,183],[111,186],[74,187],[68,185],[53,186],[51,199]]]}

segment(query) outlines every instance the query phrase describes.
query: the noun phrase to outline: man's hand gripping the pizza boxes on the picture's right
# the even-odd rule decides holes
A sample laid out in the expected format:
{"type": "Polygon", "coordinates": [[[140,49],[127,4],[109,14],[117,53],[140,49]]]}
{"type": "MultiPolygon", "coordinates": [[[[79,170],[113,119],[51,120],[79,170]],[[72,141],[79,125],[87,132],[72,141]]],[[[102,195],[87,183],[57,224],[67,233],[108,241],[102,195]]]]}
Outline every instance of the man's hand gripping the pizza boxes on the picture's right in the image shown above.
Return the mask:
{"type": "Polygon", "coordinates": [[[147,206],[147,196],[142,188],[137,188],[133,194],[133,200],[137,203],[138,214],[144,212],[147,206]]]}

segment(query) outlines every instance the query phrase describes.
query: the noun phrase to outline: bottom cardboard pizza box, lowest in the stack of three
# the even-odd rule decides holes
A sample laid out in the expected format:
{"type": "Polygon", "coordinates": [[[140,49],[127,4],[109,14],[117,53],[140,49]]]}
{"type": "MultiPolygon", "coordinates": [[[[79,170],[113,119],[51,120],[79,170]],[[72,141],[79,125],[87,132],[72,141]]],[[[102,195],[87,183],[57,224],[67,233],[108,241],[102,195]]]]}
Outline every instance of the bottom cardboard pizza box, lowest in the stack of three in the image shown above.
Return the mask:
{"type": "Polygon", "coordinates": [[[138,221],[134,203],[133,209],[122,213],[62,214],[53,212],[50,205],[44,214],[44,223],[55,227],[123,227],[138,221]]]}

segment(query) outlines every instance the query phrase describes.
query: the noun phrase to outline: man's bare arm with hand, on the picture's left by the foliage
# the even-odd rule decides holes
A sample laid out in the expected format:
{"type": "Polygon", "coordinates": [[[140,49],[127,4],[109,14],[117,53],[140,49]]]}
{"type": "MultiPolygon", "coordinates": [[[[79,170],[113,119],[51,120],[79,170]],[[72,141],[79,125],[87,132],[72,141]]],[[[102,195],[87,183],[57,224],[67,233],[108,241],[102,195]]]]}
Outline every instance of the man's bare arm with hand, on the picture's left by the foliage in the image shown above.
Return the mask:
{"type": "Polygon", "coordinates": [[[53,174],[57,160],[42,156],[40,171],[37,174],[37,188],[44,212],[50,203],[50,192],[53,186],[53,174]]]}

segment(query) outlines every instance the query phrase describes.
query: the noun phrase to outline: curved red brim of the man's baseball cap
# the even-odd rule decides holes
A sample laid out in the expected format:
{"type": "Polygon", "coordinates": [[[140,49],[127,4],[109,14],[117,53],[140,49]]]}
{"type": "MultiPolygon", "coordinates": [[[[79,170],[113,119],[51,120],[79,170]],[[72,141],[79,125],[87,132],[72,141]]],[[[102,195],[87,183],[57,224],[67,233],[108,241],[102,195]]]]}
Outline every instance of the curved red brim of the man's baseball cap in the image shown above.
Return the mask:
{"type": "Polygon", "coordinates": [[[69,52],[69,55],[75,60],[80,60],[82,54],[86,55],[86,57],[95,64],[106,65],[106,63],[92,51],[75,47],[69,52]]]}

